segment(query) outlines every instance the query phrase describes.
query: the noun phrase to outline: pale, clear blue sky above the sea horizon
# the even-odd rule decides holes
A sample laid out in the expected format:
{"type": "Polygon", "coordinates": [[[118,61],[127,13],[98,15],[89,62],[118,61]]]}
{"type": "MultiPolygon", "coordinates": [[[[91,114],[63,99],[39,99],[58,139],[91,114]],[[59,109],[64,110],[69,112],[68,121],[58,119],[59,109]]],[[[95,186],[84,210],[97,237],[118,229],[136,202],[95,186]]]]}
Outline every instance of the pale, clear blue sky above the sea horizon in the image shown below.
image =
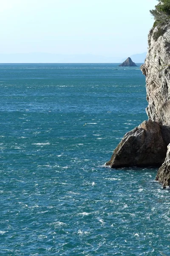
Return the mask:
{"type": "Polygon", "coordinates": [[[36,58],[40,58],[45,53],[47,59],[69,55],[71,60],[77,55],[81,60],[87,55],[87,59],[104,56],[115,60],[146,52],[147,34],[154,22],[149,10],[157,3],[0,0],[0,58],[10,55],[17,62],[22,54],[38,53],[36,58]]]}

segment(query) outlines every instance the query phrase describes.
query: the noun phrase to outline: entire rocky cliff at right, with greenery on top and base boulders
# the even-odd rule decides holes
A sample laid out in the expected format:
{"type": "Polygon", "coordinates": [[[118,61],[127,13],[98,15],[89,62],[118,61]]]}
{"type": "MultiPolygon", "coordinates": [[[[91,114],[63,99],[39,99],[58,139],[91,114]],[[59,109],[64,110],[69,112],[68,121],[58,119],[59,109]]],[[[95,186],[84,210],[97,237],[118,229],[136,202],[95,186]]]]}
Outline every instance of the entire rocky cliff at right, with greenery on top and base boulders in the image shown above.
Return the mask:
{"type": "Polygon", "coordinates": [[[170,186],[170,0],[159,0],[141,66],[146,76],[148,120],[129,131],[106,165],[159,166],[156,180],[170,186]],[[168,148],[168,150],[167,150],[168,148]]]}

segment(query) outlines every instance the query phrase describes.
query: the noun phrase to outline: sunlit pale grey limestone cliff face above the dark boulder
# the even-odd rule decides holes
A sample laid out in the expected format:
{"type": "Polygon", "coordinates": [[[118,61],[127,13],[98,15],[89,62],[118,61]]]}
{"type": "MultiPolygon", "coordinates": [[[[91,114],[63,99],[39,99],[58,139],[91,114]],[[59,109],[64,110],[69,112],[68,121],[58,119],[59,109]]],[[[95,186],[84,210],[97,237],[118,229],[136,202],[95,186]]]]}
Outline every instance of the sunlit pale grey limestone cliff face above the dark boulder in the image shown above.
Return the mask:
{"type": "Polygon", "coordinates": [[[148,118],[170,126],[170,24],[150,30],[141,70],[146,76],[148,118]]]}

